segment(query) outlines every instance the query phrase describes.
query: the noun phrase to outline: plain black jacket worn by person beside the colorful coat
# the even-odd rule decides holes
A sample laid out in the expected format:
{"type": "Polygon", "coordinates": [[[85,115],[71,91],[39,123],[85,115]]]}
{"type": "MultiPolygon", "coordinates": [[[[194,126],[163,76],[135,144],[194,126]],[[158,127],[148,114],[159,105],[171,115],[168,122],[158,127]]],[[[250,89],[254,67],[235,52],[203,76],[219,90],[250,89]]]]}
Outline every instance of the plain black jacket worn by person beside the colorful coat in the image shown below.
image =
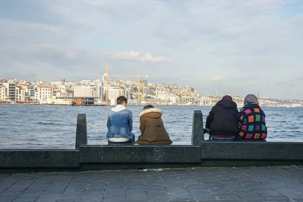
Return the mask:
{"type": "Polygon", "coordinates": [[[230,99],[222,99],[210,111],[205,127],[210,129],[210,135],[236,135],[237,116],[237,104],[230,99]]]}

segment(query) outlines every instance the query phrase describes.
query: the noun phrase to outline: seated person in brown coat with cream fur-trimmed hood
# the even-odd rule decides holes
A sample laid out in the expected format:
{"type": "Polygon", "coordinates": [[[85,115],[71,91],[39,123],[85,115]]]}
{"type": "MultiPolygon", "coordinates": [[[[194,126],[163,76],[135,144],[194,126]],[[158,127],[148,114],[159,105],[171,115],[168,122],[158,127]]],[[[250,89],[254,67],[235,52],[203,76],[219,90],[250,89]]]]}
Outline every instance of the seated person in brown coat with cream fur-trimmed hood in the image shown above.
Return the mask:
{"type": "Polygon", "coordinates": [[[140,116],[141,135],[134,143],[140,144],[170,144],[170,140],[161,119],[162,110],[147,105],[143,108],[140,116]]]}

